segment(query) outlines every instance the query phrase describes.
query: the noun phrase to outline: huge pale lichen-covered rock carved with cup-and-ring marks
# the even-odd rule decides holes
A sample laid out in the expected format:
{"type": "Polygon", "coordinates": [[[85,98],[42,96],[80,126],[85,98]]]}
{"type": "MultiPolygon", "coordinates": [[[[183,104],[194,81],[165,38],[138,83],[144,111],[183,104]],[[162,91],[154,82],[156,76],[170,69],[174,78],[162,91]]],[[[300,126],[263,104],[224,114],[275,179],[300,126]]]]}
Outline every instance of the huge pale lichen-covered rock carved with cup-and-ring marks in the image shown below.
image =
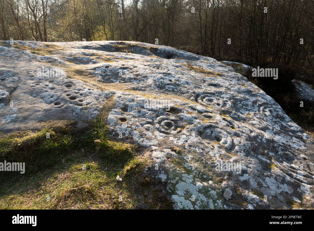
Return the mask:
{"type": "Polygon", "coordinates": [[[58,119],[84,128],[113,97],[112,139],[140,146],[175,208],[314,207],[313,138],[213,58],[140,42],[7,41],[0,63],[3,134],[58,119]]]}

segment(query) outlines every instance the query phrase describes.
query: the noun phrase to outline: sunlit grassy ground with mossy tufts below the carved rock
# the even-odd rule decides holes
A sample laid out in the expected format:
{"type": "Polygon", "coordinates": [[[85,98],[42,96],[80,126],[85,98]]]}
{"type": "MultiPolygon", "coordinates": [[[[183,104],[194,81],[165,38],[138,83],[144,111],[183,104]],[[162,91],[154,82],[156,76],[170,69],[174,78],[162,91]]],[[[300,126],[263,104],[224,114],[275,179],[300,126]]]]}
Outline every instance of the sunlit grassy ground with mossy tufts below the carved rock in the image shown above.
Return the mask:
{"type": "Polygon", "coordinates": [[[2,137],[0,162],[26,162],[26,171],[1,173],[0,209],[172,208],[145,175],[147,160],[137,147],[108,138],[113,106],[107,100],[84,134],[73,133],[74,121],[50,121],[42,130],[2,137]]]}

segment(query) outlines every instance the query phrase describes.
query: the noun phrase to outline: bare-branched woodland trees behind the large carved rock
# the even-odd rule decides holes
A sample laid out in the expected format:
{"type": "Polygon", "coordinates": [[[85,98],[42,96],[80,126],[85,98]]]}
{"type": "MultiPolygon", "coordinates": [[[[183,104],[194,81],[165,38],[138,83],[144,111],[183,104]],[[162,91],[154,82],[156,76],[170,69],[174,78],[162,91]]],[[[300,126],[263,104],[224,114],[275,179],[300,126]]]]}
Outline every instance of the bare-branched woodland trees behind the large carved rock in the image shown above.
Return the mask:
{"type": "Polygon", "coordinates": [[[158,38],[217,60],[313,73],[313,6],[313,0],[0,0],[0,39],[158,38]]]}

